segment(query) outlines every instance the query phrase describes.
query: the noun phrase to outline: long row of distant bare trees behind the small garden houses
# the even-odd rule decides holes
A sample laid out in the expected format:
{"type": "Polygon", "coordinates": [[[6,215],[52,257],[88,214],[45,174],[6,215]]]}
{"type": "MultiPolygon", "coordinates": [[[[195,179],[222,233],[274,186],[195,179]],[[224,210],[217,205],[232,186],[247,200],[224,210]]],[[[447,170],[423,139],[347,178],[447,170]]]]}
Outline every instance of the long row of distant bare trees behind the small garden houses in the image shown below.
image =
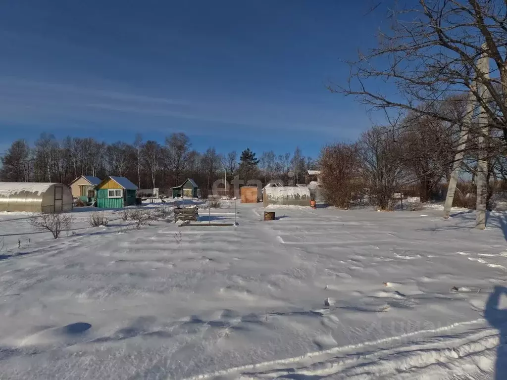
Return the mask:
{"type": "Polygon", "coordinates": [[[61,140],[42,133],[30,145],[26,140],[13,141],[2,158],[0,180],[12,182],[60,182],[68,184],[80,175],[104,178],[127,177],[139,188],[168,187],[193,178],[203,191],[217,179],[238,175],[245,183],[272,179],[302,183],[306,170],[316,163],[305,157],[299,147],[294,153],[276,155],[265,151],[257,158],[249,148],[240,156],[235,150],[221,154],[214,147],[203,152],[192,148],[184,133],[167,136],[164,143],[143,141],[137,135],[132,143],[106,143],[94,138],[65,137],[61,140]]]}

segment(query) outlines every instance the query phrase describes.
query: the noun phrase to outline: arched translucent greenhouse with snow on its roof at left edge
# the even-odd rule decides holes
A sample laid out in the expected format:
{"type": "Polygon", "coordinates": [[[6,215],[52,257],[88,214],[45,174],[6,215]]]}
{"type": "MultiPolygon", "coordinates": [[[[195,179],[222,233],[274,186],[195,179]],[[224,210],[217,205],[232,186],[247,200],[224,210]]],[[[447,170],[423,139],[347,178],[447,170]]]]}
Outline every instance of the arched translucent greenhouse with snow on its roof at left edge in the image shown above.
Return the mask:
{"type": "Polygon", "coordinates": [[[73,208],[62,183],[0,182],[0,211],[60,212],[73,208]]]}

